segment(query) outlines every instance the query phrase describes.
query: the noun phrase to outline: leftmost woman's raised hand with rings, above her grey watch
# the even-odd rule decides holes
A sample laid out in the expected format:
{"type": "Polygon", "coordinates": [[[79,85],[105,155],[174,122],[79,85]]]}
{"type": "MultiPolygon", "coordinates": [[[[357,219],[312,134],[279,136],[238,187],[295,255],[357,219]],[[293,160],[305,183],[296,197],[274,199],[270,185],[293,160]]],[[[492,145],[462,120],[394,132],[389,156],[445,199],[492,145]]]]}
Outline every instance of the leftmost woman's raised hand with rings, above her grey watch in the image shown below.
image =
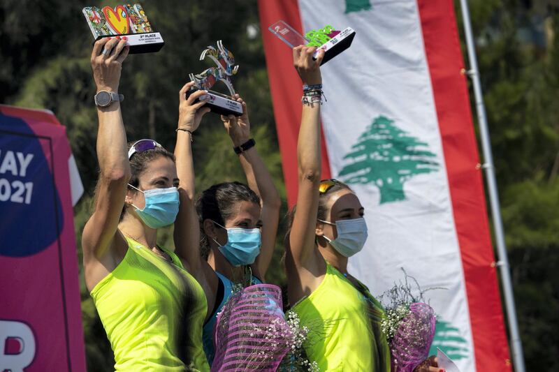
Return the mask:
{"type": "Polygon", "coordinates": [[[118,92],[122,61],[126,59],[130,50],[130,47],[126,46],[126,40],[126,36],[122,36],[102,38],[95,42],[91,64],[97,91],[118,92]]]}

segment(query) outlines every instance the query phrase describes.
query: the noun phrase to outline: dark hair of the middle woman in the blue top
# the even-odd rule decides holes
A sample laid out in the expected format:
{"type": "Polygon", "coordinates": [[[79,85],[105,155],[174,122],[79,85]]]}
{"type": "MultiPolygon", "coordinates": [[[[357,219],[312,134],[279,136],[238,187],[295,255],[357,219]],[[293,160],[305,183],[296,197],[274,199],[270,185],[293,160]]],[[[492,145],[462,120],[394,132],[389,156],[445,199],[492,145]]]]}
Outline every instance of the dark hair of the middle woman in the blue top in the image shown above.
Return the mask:
{"type": "Polygon", "coordinates": [[[215,184],[204,190],[196,200],[196,211],[200,221],[200,249],[204,258],[210,252],[210,240],[204,232],[204,221],[210,219],[225,226],[225,221],[235,213],[238,202],[253,202],[260,205],[260,198],[249,186],[240,182],[215,184]]]}

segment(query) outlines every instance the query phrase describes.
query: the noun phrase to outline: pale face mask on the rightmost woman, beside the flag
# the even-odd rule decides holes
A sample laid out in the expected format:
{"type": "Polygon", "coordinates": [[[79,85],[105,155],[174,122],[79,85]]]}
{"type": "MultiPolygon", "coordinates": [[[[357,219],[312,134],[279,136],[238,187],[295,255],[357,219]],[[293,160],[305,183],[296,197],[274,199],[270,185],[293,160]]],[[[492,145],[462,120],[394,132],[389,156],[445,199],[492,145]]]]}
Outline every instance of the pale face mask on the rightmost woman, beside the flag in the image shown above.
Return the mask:
{"type": "Polygon", "coordinates": [[[336,239],[330,239],[326,235],[323,236],[341,255],[351,257],[363,249],[368,237],[365,218],[337,220],[335,223],[323,220],[318,221],[328,223],[328,225],[335,225],[337,230],[336,239]]]}

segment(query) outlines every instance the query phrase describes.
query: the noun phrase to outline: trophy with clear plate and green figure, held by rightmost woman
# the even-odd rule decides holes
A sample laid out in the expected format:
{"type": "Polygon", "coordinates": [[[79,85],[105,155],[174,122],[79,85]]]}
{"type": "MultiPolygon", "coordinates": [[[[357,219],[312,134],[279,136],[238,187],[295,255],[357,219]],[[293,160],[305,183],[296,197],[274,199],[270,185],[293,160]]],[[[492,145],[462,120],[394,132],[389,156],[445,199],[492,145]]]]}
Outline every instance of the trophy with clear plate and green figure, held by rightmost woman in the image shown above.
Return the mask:
{"type": "Polygon", "coordinates": [[[303,36],[296,29],[293,29],[293,27],[281,20],[268,27],[268,30],[277,36],[279,40],[289,45],[291,49],[298,45],[317,47],[318,49],[314,52],[313,59],[316,59],[320,49],[324,49],[324,59],[322,59],[321,65],[326,64],[326,62],[336,57],[337,54],[349,48],[355,37],[355,31],[351,27],[347,27],[343,31],[337,31],[330,25],[322,29],[311,30],[303,36]]]}

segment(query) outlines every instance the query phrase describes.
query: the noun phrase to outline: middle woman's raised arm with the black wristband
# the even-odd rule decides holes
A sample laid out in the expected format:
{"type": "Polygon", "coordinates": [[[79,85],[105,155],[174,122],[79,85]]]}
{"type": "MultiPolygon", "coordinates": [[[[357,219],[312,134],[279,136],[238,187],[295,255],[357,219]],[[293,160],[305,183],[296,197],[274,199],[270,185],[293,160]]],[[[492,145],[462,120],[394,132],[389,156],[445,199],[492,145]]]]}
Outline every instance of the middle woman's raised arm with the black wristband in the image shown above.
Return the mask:
{"type": "MultiPolygon", "coordinates": [[[[240,117],[222,116],[224,126],[227,133],[233,141],[233,146],[238,147],[245,144],[250,137],[250,122],[247,111],[247,103],[242,101],[238,94],[235,99],[242,104],[242,115],[240,117]]],[[[277,225],[279,223],[279,208],[282,201],[279,199],[279,193],[274,186],[272,176],[268,172],[268,168],[264,165],[262,158],[256,151],[256,147],[251,147],[246,151],[242,151],[239,155],[239,161],[242,170],[245,171],[247,183],[261,199],[260,219],[262,221],[262,246],[260,254],[252,265],[252,271],[260,279],[264,280],[270,260],[275,247],[275,237],[277,234],[277,225]]]]}

